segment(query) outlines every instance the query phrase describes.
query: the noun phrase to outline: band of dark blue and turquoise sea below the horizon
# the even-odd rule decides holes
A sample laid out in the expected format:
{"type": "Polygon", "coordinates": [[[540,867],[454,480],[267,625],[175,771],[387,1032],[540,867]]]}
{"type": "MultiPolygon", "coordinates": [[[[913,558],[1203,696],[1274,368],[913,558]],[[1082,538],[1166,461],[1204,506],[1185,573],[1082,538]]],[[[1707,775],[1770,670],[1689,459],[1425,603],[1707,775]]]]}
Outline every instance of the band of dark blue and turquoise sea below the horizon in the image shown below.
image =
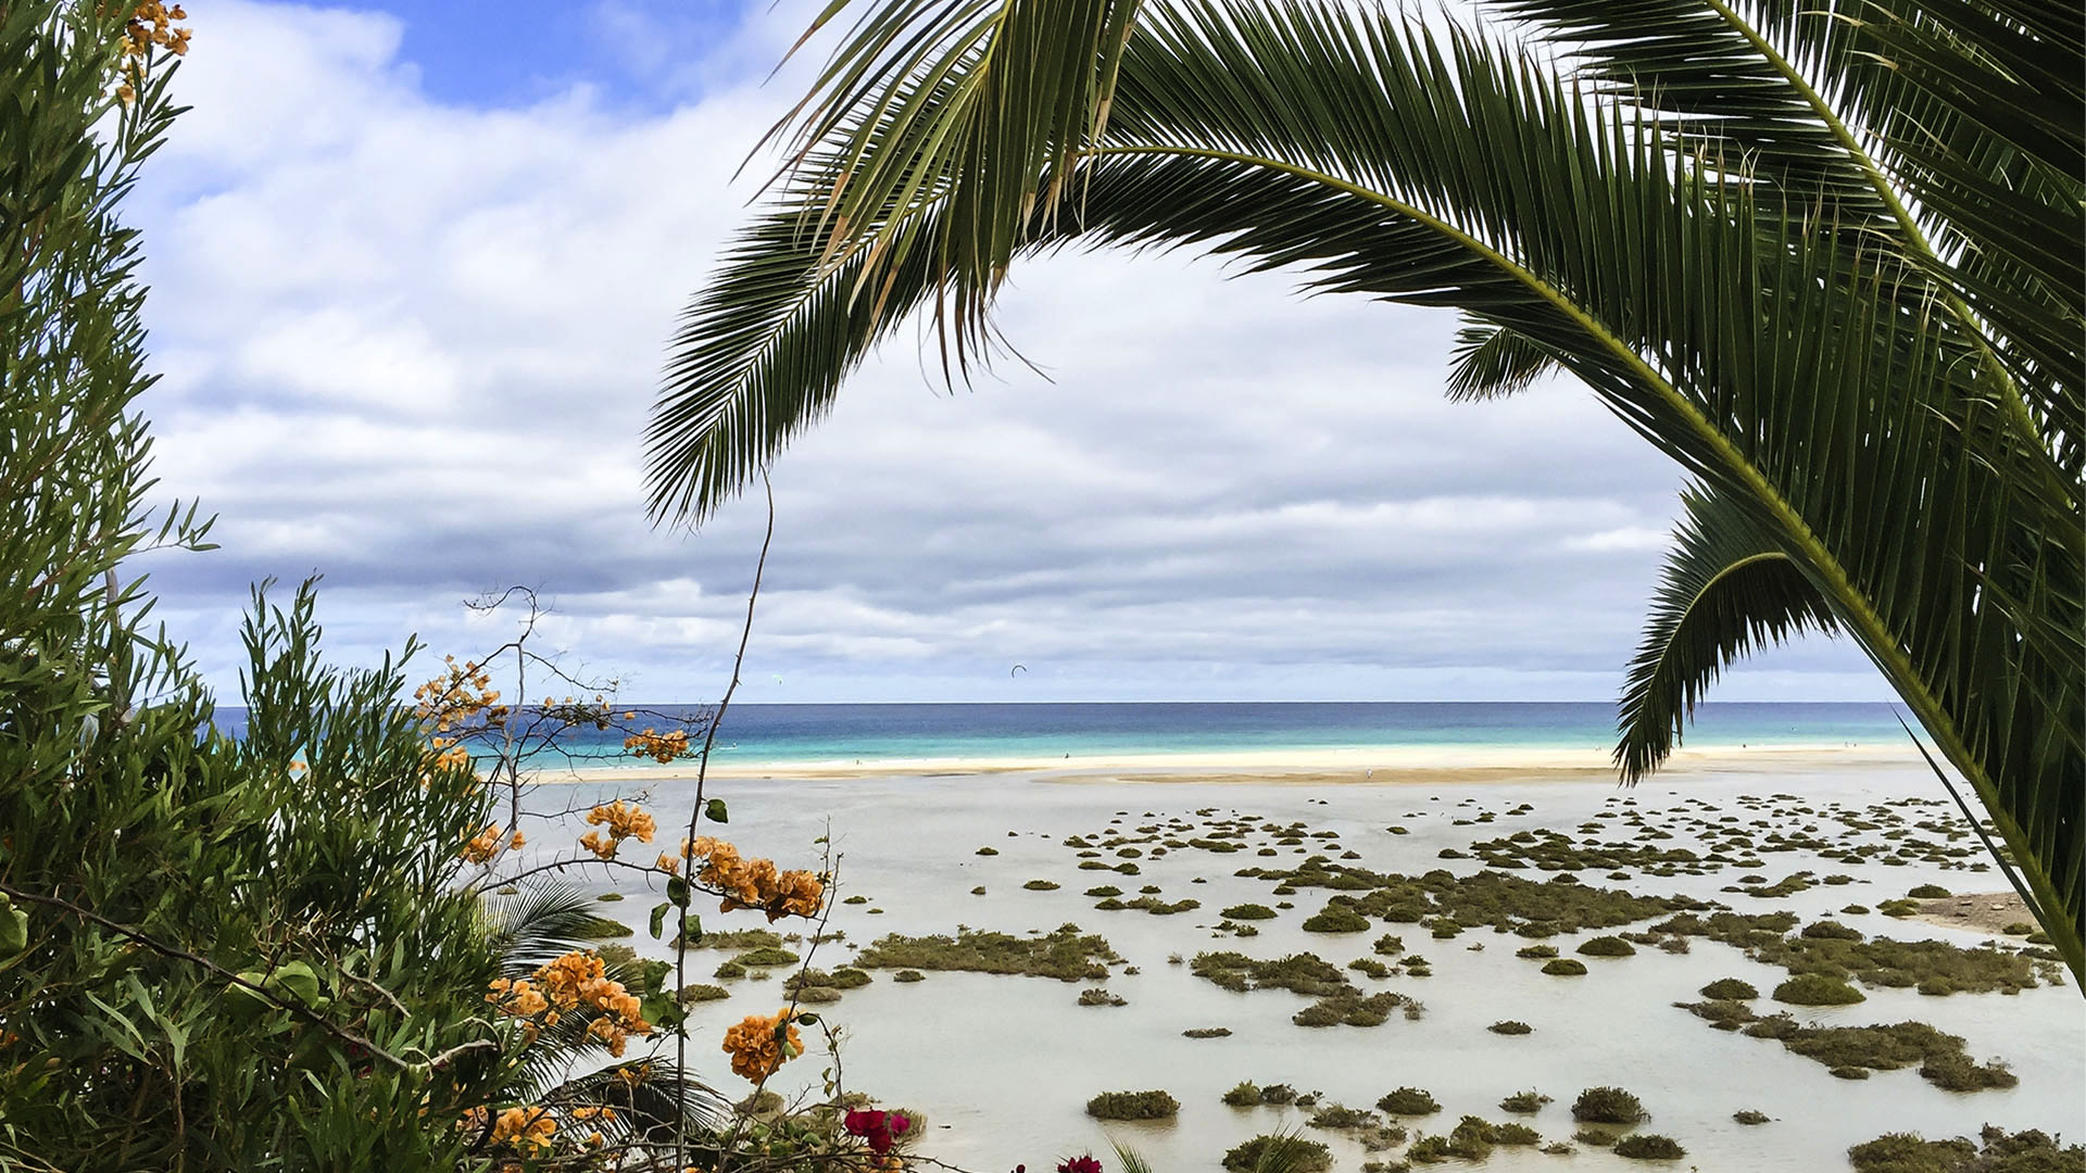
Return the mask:
{"type": "MultiPolygon", "coordinates": [[[[1890,703],[1704,703],[1688,745],[1905,743],[1890,703]]],[[[647,705],[638,724],[701,718],[647,705]]],[[[1610,703],[978,703],[732,705],[715,762],[874,762],[893,758],[1072,758],[1343,747],[1608,749],[1610,703]]],[[[576,766],[630,764],[622,733],[567,741],[576,766]]]]}

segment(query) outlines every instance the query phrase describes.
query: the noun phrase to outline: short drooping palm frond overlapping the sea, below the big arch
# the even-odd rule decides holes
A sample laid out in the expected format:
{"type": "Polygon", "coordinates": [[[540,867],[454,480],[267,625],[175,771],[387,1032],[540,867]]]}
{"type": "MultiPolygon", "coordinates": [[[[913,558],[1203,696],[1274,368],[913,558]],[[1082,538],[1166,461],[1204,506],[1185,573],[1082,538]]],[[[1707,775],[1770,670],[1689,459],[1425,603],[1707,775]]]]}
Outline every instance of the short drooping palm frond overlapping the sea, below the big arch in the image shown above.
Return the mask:
{"type": "Polygon", "coordinates": [[[1696,701],[1736,660],[1804,630],[1832,605],[1748,509],[1688,490],[1619,703],[1615,764],[1635,783],[1681,743],[1696,701]]]}

